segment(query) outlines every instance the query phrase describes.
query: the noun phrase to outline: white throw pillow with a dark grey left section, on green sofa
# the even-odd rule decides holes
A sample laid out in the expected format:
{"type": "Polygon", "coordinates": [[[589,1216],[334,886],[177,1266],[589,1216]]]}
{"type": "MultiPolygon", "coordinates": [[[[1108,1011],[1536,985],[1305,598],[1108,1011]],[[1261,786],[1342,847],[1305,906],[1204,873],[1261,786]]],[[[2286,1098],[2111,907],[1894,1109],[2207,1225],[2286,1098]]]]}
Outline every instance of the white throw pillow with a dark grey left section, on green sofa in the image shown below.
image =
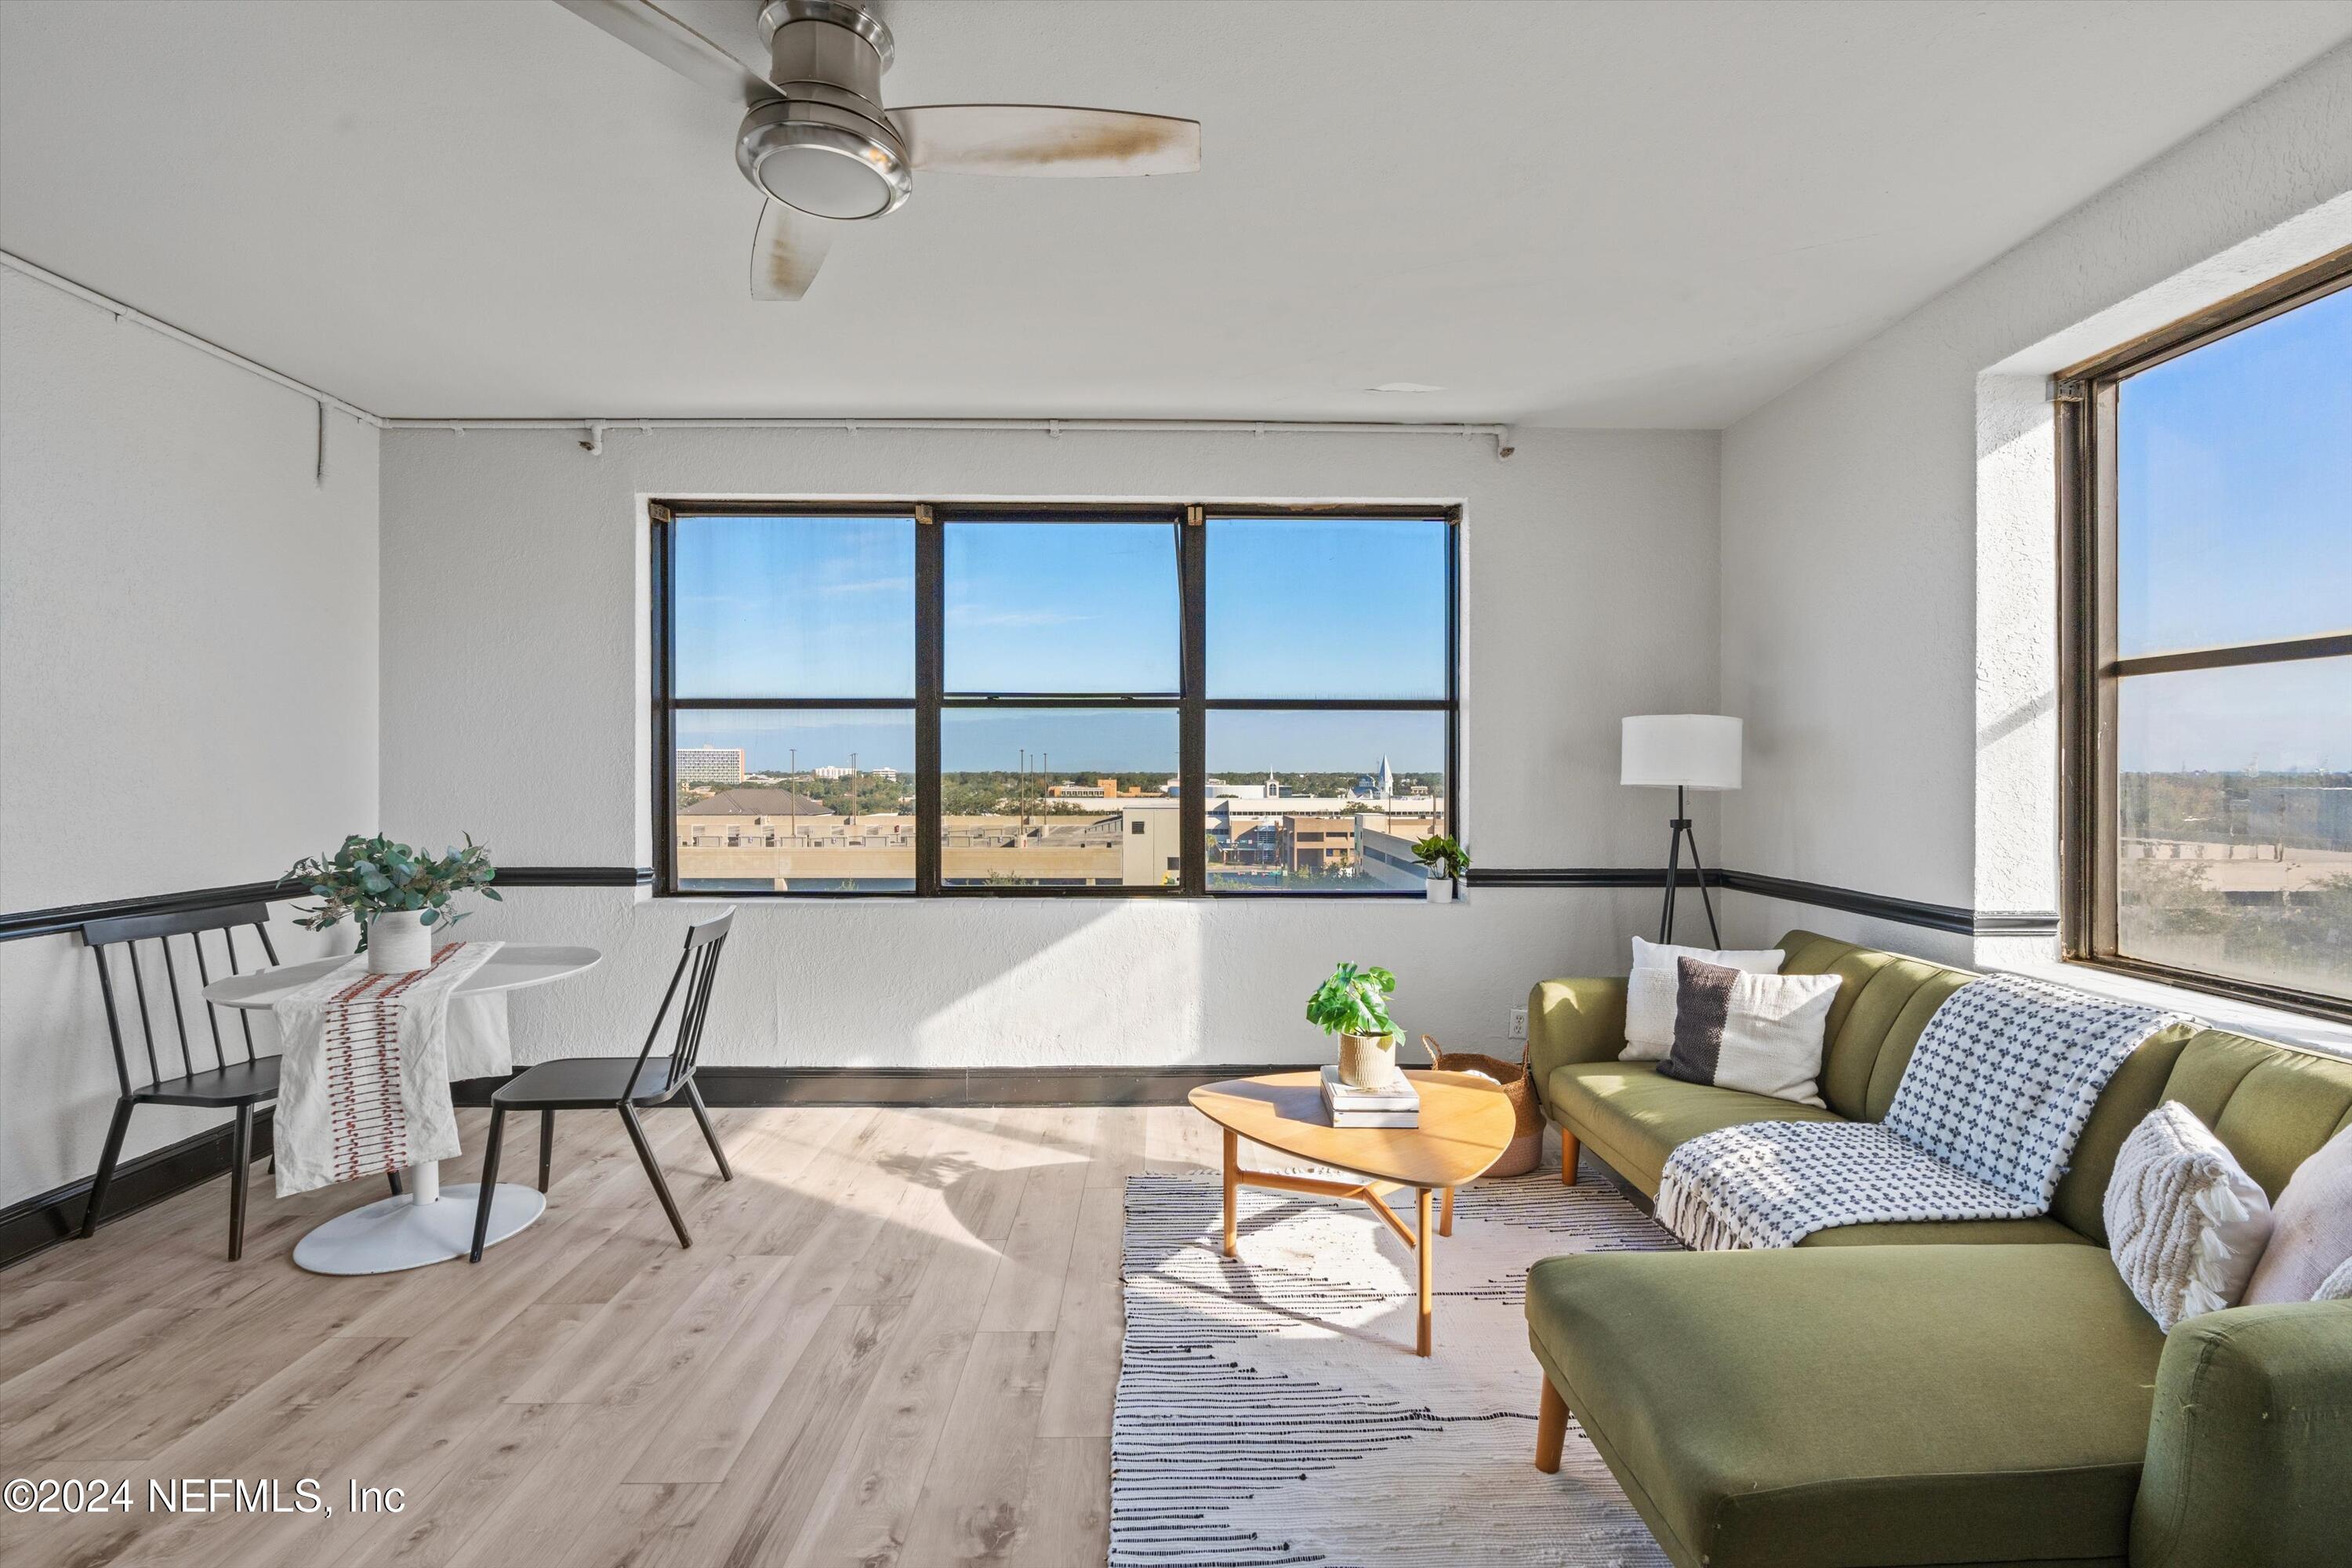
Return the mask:
{"type": "Polygon", "coordinates": [[[1675,964],[1675,1048],[1658,1072],[1686,1084],[1820,1105],[1820,1039],[1837,976],[1759,976],[1724,964],[1675,964]]]}

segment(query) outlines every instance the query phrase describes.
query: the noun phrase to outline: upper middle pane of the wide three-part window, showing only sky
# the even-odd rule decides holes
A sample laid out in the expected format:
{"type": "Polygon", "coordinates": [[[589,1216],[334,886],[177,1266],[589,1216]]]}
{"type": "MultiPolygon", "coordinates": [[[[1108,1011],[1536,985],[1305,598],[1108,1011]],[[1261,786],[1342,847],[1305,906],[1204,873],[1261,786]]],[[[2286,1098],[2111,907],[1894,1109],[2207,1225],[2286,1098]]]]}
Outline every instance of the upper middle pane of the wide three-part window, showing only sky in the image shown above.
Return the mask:
{"type": "Polygon", "coordinates": [[[1174,524],[946,529],[948,691],[1178,691],[1174,524]]]}

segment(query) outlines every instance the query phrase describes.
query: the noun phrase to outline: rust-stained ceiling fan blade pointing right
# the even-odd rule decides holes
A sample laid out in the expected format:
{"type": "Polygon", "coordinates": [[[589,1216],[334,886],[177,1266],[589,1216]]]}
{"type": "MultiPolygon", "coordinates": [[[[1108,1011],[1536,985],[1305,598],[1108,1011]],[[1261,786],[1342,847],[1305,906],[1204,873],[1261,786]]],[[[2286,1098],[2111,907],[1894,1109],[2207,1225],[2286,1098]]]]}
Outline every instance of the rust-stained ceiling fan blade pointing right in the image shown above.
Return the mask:
{"type": "Polygon", "coordinates": [[[927,103],[889,118],[917,169],[1065,179],[1200,169],[1200,120],[1056,103],[927,103]]]}

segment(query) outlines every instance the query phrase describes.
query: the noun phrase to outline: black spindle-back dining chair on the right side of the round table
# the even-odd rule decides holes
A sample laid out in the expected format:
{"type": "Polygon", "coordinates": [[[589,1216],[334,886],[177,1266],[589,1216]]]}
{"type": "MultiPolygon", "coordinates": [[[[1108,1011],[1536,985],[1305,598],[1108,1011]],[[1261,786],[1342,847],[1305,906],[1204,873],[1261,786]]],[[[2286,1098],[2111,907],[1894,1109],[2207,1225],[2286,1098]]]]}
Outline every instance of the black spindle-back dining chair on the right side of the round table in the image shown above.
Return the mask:
{"type": "Polygon", "coordinates": [[[734,1171],[727,1166],[727,1150],[720,1147],[717,1128],[710,1126],[710,1107],[703,1105],[701,1091],[694,1088],[694,1058],[703,1048],[703,1018],[710,1013],[710,980],[717,976],[720,952],[727,947],[727,929],[731,924],[734,910],[727,910],[715,919],[687,926],[687,950],[677,954],[677,969],[670,971],[670,990],[661,992],[661,1011],[654,1013],[654,1027],[644,1032],[637,1056],[567,1056],[539,1063],[508,1079],[489,1098],[482,1197],[473,1211],[473,1262],[482,1262],[482,1246],[489,1239],[489,1199],[499,1187],[499,1143],[506,1138],[506,1112],[510,1110],[539,1112],[541,1192],[548,1190],[548,1173],[555,1157],[555,1112],[621,1112],[621,1126],[628,1128],[628,1140],[637,1145],[637,1159],[654,1180],[654,1197],[661,1199],[661,1211],[670,1215],[677,1246],[694,1246],[694,1237],[687,1234],[687,1222],[677,1213],[677,1199],[670,1197],[670,1182],[661,1178],[654,1147],[644,1140],[644,1124],[637,1121],[637,1112],[652,1105],[668,1105],[684,1093],[687,1105],[694,1107],[694,1119],[703,1128],[703,1143],[710,1145],[710,1159],[720,1164],[720,1180],[734,1180],[734,1171]],[[677,1034],[670,1041],[670,1053],[654,1058],[654,1041],[661,1039],[661,1025],[670,1016],[670,1004],[680,1001],[680,997],[684,1001],[677,1011],[677,1034]]]}

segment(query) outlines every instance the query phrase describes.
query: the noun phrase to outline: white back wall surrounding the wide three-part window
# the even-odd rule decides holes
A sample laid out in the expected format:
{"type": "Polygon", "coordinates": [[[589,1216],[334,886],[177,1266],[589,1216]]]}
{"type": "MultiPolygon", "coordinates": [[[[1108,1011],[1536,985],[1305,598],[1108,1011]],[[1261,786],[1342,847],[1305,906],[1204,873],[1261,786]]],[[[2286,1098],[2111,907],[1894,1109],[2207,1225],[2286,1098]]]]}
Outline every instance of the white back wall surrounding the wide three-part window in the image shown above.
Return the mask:
{"type": "MultiPolygon", "coordinates": [[[[644,865],[642,498],[1091,496],[1463,501],[1463,827],[1486,865],[1644,865],[1668,802],[1616,783],[1625,712],[1715,703],[1712,433],[1428,435],[395,430],[383,444],[383,823],[513,865],[644,865]]],[[[1712,820],[1700,832],[1712,844],[1712,820]]],[[[524,1056],[612,1051],[706,903],[513,891],[470,933],[583,940],[597,976],[517,997],[524,1056]]],[[[1529,983],[1592,973],[1649,893],[1458,907],[750,903],[706,1060],[1174,1065],[1310,1060],[1338,959],[1399,1018],[1501,1041],[1529,983]]]]}

